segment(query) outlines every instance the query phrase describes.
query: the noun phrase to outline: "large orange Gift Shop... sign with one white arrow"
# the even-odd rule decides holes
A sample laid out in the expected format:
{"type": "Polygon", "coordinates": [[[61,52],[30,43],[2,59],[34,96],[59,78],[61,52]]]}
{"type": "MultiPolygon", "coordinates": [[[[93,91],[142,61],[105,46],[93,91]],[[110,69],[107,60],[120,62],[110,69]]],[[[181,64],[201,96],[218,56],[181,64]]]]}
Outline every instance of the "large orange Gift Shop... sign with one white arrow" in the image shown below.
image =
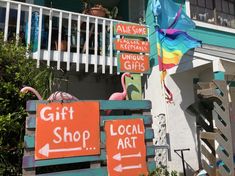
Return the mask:
{"type": "Polygon", "coordinates": [[[35,159],[100,154],[98,102],[38,104],[35,159]]]}

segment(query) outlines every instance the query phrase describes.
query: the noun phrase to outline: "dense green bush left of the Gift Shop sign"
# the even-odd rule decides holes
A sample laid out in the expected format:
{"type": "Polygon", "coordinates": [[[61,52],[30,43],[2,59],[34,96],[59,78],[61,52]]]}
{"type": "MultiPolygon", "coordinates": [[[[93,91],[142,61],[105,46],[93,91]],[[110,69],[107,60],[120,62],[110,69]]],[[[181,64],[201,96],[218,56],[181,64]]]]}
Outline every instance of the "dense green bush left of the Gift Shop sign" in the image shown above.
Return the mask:
{"type": "Polygon", "coordinates": [[[26,47],[4,42],[0,34],[0,175],[20,175],[25,127],[25,104],[32,95],[22,95],[24,85],[47,97],[51,92],[51,69],[36,69],[36,60],[27,58],[26,47]]]}

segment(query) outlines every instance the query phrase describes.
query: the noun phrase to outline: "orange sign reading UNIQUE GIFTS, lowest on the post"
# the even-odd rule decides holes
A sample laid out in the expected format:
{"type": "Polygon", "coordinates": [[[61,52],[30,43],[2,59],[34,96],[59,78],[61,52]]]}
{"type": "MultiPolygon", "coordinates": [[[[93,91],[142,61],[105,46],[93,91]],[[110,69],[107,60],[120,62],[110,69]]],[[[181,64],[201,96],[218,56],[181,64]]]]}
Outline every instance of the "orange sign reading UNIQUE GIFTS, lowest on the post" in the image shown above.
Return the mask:
{"type": "Polygon", "coordinates": [[[150,69],[149,56],[121,53],[118,55],[118,70],[130,73],[148,73],[150,69]]]}

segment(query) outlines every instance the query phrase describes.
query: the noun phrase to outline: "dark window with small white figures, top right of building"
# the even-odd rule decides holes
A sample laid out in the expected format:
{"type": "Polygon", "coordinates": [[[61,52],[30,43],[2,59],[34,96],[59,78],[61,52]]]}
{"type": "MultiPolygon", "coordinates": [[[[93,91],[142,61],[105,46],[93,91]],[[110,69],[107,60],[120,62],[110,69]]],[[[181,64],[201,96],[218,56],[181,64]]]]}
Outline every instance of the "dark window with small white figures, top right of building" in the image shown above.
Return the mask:
{"type": "Polygon", "coordinates": [[[235,0],[189,1],[192,19],[235,28],[235,0]]]}

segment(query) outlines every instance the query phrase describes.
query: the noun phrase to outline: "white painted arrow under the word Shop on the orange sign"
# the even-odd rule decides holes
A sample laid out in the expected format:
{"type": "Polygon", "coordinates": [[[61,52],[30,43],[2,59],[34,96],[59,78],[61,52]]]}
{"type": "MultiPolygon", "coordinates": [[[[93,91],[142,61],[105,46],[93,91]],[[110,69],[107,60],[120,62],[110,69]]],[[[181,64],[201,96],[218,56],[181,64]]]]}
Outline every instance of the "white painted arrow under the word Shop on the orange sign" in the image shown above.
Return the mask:
{"type": "Polygon", "coordinates": [[[82,150],[82,147],[77,148],[62,148],[62,149],[50,149],[49,144],[44,145],[38,152],[46,157],[49,156],[49,153],[53,152],[69,152],[69,151],[79,151],[82,150]]]}

